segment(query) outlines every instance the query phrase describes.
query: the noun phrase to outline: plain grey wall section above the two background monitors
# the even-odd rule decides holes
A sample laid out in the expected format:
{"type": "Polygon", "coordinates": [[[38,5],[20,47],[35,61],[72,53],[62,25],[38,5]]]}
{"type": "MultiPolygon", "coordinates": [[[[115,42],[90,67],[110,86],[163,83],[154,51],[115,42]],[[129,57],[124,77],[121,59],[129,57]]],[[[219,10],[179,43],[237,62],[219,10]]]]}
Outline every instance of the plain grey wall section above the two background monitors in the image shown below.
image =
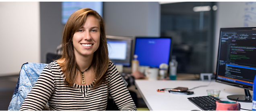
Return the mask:
{"type": "Polygon", "coordinates": [[[158,2],[104,2],[106,34],[112,36],[160,36],[158,2]]]}

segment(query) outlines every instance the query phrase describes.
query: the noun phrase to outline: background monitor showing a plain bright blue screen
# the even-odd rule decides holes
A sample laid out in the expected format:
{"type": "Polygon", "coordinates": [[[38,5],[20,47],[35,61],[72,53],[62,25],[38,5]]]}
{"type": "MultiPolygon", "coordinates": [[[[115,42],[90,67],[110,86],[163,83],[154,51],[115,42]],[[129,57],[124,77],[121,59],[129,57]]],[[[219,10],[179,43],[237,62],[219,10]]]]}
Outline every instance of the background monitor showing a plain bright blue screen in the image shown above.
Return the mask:
{"type": "Polygon", "coordinates": [[[140,66],[159,68],[162,63],[169,65],[171,37],[136,37],[134,54],[140,66]]]}

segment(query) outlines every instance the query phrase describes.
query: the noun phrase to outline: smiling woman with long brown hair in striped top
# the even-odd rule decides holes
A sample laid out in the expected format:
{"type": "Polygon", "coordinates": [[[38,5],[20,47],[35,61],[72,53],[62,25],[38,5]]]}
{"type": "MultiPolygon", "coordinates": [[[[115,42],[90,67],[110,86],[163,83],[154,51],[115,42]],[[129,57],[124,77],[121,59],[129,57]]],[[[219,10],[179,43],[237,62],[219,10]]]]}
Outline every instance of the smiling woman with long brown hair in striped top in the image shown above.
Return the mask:
{"type": "Polygon", "coordinates": [[[45,66],[20,110],[136,110],[119,72],[108,59],[105,23],[94,10],[74,12],[62,36],[63,55],[45,66]]]}

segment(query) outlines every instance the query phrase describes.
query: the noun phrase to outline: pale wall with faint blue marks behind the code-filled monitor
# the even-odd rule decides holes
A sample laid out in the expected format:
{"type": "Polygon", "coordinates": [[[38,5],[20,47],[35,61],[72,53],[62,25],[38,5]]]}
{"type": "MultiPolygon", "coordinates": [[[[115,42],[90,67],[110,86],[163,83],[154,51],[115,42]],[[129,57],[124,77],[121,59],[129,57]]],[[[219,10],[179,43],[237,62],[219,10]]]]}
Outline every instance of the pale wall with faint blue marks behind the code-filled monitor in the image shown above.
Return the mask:
{"type": "Polygon", "coordinates": [[[217,2],[217,6],[213,70],[216,70],[220,28],[256,27],[256,2],[217,2]]]}

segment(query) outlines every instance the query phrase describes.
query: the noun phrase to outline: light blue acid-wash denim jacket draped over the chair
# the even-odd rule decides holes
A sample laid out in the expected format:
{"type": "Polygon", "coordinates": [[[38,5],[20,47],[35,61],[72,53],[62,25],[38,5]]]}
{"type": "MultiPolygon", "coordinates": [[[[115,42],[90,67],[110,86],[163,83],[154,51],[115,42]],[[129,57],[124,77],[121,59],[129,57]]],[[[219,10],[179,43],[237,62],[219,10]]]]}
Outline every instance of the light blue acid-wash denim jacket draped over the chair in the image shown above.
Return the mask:
{"type": "MultiPolygon", "coordinates": [[[[34,87],[37,78],[46,65],[47,64],[42,63],[25,63],[22,65],[20,75],[12,95],[12,100],[8,108],[9,111],[20,110],[27,94],[29,94],[30,90],[34,87]]],[[[125,80],[124,84],[127,86],[127,82],[125,80]]],[[[48,103],[45,105],[43,110],[50,110],[48,103]]]]}

